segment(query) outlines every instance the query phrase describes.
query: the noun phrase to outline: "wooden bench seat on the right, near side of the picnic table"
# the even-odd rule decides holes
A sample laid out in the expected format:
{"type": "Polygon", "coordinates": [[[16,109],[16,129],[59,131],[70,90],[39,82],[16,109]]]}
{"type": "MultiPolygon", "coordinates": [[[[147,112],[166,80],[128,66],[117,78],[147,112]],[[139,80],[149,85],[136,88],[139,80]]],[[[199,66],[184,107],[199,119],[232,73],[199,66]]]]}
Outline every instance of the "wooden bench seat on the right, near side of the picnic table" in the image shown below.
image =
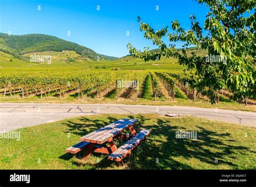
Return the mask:
{"type": "MultiPolygon", "coordinates": [[[[124,157],[131,155],[131,150],[134,149],[140,142],[142,142],[146,136],[150,134],[150,130],[142,130],[133,136],[130,140],[124,143],[123,146],[119,147],[115,152],[111,153],[107,159],[117,162],[121,162],[124,157]]],[[[122,162],[123,163],[123,162],[122,162]]]]}

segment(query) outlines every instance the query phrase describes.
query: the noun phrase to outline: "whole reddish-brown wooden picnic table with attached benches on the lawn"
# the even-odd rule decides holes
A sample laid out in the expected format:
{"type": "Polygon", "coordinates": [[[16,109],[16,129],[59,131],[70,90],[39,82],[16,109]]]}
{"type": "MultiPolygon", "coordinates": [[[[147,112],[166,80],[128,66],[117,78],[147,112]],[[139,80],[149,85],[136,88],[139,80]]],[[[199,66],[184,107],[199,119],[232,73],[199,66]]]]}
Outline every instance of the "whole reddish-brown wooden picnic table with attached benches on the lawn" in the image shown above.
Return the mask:
{"type": "Polygon", "coordinates": [[[140,142],[142,142],[150,130],[142,130],[136,133],[134,124],[138,119],[120,119],[112,124],[100,128],[97,131],[91,132],[82,138],[81,142],[66,149],[67,153],[76,154],[81,150],[85,150],[83,160],[87,160],[92,152],[109,154],[108,160],[116,161],[123,165],[124,157],[131,155],[131,150],[134,149],[140,142]],[[129,128],[131,134],[123,134],[122,132],[129,128]],[[128,140],[124,145],[117,148],[114,139],[128,140]],[[102,146],[103,143],[108,143],[108,147],[102,146]]]}

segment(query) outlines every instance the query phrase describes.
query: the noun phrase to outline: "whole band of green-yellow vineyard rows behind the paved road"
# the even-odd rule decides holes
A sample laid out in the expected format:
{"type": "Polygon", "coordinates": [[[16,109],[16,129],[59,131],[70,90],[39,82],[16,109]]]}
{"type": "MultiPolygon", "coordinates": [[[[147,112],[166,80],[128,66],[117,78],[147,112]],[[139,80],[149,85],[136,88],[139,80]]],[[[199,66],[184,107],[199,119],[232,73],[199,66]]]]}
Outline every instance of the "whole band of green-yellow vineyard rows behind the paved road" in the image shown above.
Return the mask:
{"type": "MultiPolygon", "coordinates": [[[[75,100],[86,98],[101,100],[147,99],[152,101],[176,99],[195,101],[205,99],[197,90],[196,76],[171,71],[120,70],[120,71],[82,71],[82,70],[3,70],[0,75],[1,98],[37,99],[72,96],[75,100]],[[132,84],[130,84],[132,83],[132,84]]],[[[221,100],[232,93],[220,90],[221,100]]],[[[219,96],[216,98],[219,103],[219,96]]],[[[246,103],[245,103],[246,104],[246,103]]]]}

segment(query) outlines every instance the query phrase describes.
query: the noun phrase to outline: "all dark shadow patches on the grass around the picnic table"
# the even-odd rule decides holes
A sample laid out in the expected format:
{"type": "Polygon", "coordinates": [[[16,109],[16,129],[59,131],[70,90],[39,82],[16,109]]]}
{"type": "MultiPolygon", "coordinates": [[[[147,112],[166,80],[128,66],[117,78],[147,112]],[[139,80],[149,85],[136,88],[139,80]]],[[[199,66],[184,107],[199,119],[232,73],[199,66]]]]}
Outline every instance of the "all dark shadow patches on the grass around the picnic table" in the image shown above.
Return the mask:
{"type": "MultiPolygon", "coordinates": [[[[137,132],[142,129],[151,130],[146,141],[132,150],[131,157],[124,159],[128,169],[195,169],[191,164],[186,164],[186,161],[190,159],[196,159],[199,164],[200,162],[210,164],[206,166],[211,166],[211,168],[228,165],[233,169],[239,169],[237,164],[230,162],[231,159],[234,159],[233,155],[238,151],[241,154],[251,151],[248,147],[231,145],[235,140],[232,139],[230,133],[214,132],[197,125],[193,126],[193,129],[180,127],[172,125],[172,119],[168,118],[152,120],[140,115],[131,115],[128,118],[138,119],[134,125],[137,132]],[[197,140],[176,138],[176,132],[180,130],[196,131],[197,140]],[[218,159],[218,163],[214,162],[216,159],[218,159]]],[[[112,117],[108,117],[105,121],[82,118],[82,124],[67,125],[70,127],[69,132],[82,136],[116,120],[118,119],[112,117]]],[[[117,144],[118,146],[122,145],[117,144]]],[[[101,160],[97,163],[77,163],[76,161],[72,161],[72,163],[79,166],[90,166],[93,169],[107,169],[116,164],[107,160],[107,155],[100,153],[93,153],[93,155],[99,156],[101,160]]]]}

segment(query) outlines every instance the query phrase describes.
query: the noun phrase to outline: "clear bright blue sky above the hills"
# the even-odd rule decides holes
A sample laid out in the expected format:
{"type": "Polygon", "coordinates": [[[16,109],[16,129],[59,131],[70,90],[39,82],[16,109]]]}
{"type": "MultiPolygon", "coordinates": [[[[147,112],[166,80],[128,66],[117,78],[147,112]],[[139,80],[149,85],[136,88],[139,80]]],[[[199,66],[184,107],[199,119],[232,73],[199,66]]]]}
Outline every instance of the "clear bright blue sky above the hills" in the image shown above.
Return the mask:
{"type": "Polygon", "coordinates": [[[203,26],[208,8],[194,0],[0,0],[0,11],[2,33],[49,34],[121,57],[129,54],[129,42],[139,49],[156,48],[139,31],[138,16],[155,30],[170,26],[174,19],[188,29],[193,13],[203,26]]]}

